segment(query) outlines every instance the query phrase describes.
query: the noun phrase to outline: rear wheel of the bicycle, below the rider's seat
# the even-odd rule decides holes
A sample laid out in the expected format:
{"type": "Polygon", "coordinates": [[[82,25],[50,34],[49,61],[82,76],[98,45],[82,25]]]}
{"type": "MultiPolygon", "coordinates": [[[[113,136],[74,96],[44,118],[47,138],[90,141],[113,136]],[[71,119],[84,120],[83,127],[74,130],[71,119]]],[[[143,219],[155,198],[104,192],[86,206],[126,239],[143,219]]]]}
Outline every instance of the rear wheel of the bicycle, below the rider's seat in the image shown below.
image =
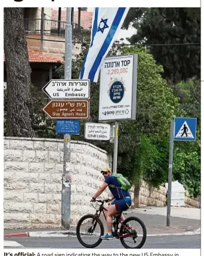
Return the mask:
{"type": "Polygon", "coordinates": [[[119,236],[123,236],[120,238],[122,245],[128,249],[142,248],[147,238],[144,222],[138,217],[128,217],[124,221],[124,225],[128,230],[121,225],[119,236]]]}

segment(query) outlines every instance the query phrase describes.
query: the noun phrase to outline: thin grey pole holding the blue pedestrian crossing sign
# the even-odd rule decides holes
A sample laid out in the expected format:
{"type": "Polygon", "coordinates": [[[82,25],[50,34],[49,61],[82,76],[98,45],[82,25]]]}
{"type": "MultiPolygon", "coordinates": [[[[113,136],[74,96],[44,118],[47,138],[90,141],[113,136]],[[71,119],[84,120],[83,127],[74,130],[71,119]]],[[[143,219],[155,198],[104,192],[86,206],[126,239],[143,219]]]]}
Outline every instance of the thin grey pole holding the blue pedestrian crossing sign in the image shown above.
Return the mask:
{"type": "Polygon", "coordinates": [[[173,169],[173,131],[174,131],[174,122],[171,122],[170,141],[169,141],[169,175],[168,175],[168,197],[167,197],[167,226],[170,226],[170,217],[171,217],[171,181],[172,181],[172,169],[173,169]]]}

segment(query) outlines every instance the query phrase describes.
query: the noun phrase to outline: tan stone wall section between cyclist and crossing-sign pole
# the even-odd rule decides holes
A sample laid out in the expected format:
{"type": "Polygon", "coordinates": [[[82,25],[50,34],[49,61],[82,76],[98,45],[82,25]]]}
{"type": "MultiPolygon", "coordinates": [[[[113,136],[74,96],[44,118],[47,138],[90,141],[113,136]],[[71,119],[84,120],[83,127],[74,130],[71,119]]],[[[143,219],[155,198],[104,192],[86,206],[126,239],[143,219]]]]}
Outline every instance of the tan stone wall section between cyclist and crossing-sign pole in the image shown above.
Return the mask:
{"type": "Polygon", "coordinates": [[[140,186],[135,189],[134,207],[165,206],[167,189],[160,186],[159,189],[151,187],[142,180],[140,186]]]}

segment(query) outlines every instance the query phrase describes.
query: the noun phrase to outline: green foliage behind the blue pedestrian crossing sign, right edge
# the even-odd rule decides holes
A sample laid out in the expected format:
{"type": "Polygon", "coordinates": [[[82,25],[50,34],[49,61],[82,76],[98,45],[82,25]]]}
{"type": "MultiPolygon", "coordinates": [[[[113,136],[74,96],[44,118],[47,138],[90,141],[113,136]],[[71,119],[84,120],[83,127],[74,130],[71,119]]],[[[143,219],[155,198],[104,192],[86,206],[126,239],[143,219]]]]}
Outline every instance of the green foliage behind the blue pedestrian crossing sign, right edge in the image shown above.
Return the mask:
{"type": "Polygon", "coordinates": [[[195,142],[175,141],[173,178],[183,184],[191,197],[201,194],[201,82],[196,79],[181,81],[173,88],[179,97],[185,117],[197,118],[195,142]]]}

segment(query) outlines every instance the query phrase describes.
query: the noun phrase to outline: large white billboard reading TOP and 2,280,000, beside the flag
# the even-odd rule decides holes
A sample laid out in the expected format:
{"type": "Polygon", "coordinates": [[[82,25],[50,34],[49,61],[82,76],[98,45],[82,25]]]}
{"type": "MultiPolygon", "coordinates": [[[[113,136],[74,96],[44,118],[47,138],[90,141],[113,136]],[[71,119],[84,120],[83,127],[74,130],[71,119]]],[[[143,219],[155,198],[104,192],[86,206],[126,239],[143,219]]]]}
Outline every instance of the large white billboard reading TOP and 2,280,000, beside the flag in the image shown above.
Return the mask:
{"type": "Polygon", "coordinates": [[[138,55],[105,59],[100,71],[99,120],[136,119],[138,55]]]}

